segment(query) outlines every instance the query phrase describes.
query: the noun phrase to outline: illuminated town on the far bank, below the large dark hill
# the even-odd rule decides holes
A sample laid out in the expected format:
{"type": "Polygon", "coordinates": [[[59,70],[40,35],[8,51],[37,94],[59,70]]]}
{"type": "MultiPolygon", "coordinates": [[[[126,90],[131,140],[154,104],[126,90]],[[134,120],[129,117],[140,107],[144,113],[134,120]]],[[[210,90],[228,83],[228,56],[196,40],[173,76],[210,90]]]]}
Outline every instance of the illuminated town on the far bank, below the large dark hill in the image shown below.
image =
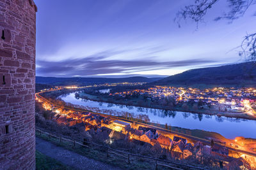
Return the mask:
{"type": "Polygon", "coordinates": [[[237,113],[246,113],[252,118],[256,117],[256,89],[253,88],[176,88],[176,87],[151,87],[146,90],[132,90],[125,92],[115,92],[110,96],[136,96],[145,95],[148,98],[161,99],[167,96],[174,97],[176,104],[204,103],[202,107],[215,108],[219,111],[230,111],[237,113]]]}

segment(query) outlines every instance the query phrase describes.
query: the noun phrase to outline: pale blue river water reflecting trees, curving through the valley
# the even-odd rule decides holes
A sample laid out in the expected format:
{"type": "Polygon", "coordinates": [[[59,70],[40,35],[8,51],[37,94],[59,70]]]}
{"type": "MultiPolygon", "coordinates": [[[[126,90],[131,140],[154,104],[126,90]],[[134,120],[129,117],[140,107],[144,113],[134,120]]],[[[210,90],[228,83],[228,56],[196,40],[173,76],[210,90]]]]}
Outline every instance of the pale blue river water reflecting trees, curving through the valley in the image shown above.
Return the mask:
{"type": "MultiPolygon", "coordinates": [[[[66,103],[82,106],[96,107],[100,110],[127,111],[134,115],[148,115],[150,122],[168,124],[187,129],[200,129],[210,132],[218,132],[225,138],[234,139],[237,136],[256,139],[256,121],[240,118],[217,117],[214,115],[193,114],[181,111],[166,111],[120,104],[102,103],[84,99],[77,99],[75,93],[61,96],[66,103]]],[[[103,113],[103,112],[102,112],[103,113]]]]}

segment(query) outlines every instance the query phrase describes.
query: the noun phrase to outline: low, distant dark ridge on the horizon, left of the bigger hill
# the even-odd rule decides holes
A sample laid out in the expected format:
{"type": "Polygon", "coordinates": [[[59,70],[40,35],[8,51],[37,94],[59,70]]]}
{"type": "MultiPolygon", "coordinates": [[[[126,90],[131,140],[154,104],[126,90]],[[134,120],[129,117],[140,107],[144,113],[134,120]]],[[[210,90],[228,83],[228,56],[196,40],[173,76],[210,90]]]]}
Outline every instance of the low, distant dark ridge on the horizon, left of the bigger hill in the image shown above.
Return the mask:
{"type": "Polygon", "coordinates": [[[142,76],[134,76],[129,78],[56,78],[36,76],[36,83],[47,85],[92,85],[101,83],[122,83],[122,82],[146,82],[159,80],[161,78],[147,78],[142,76]]]}

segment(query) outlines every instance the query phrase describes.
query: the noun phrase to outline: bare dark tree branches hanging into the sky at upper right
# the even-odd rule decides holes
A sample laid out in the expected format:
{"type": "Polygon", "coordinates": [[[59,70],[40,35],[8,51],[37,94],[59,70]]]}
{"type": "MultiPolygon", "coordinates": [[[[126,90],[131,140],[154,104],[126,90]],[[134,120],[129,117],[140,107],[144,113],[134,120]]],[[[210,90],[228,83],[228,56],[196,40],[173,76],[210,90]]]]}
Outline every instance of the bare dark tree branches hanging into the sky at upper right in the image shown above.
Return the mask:
{"type": "MultiPolygon", "coordinates": [[[[230,11],[224,13],[220,17],[215,18],[216,21],[226,19],[232,22],[237,18],[243,17],[244,13],[246,13],[248,8],[256,4],[256,0],[226,1],[228,3],[228,8],[230,8],[230,11]]],[[[196,22],[196,29],[198,29],[198,24],[204,21],[204,17],[207,11],[218,2],[220,2],[220,0],[195,0],[194,4],[185,6],[182,10],[180,10],[174,20],[180,27],[181,20],[191,19],[196,22]]],[[[256,13],[254,16],[256,16],[256,13]]],[[[244,59],[246,60],[256,60],[256,32],[252,34],[247,34],[244,37],[240,47],[242,49],[239,52],[240,56],[244,57],[244,59]]]]}

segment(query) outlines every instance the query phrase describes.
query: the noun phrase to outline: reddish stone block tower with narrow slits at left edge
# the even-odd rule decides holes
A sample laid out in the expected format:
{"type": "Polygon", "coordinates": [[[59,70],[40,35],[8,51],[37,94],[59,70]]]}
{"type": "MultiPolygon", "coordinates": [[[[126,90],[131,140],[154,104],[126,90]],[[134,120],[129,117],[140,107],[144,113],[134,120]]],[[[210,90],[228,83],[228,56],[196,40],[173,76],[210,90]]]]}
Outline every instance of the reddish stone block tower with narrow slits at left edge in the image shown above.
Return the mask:
{"type": "Polygon", "coordinates": [[[0,169],[35,169],[33,0],[0,0],[0,169]]]}

